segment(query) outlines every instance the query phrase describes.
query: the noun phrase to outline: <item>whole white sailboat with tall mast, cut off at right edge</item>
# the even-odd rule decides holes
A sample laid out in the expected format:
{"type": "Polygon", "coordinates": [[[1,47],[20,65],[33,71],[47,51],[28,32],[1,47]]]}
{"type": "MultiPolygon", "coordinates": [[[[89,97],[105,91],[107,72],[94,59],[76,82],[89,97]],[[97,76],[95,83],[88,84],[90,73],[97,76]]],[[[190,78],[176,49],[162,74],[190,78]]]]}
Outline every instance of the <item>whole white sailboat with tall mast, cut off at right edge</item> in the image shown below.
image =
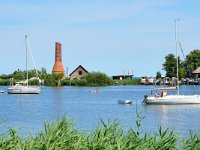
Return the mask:
{"type": "Polygon", "coordinates": [[[175,20],[175,39],[176,39],[176,65],[177,65],[177,87],[174,88],[160,88],[155,90],[162,90],[161,96],[144,96],[144,104],[152,105],[178,105],[178,104],[200,104],[200,95],[180,95],[179,94],[179,76],[178,76],[178,50],[177,50],[177,23],[178,20],[175,20]],[[167,90],[177,90],[175,95],[167,95],[167,90]]]}

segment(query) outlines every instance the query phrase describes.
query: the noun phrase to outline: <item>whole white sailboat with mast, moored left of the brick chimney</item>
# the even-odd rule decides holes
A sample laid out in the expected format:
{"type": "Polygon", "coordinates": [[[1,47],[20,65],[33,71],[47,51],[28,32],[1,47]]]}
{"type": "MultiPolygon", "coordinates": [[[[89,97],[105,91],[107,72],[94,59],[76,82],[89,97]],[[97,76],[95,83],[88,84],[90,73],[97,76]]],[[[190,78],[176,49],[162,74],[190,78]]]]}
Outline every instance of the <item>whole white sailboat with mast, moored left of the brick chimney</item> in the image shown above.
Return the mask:
{"type": "MultiPolygon", "coordinates": [[[[41,87],[40,86],[29,86],[28,84],[28,68],[27,68],[27,51],[28,48],[30,50],[30,47],[28,45],[28,36],[25,35],[25,46],[26,46],[26,80],[25,81],[21,81],[21,82],[16,82],[15,85],[13,85],[12,79],[11,79],[11,85],[8,87],[8,94],[39,94],[41,91],[41,87]]],[[[33,59],[33,57],[32,57],[33,59]]],[[[34,62],[34,60],[33,60],[34,62]]],[[[34,64],[35,65],[35,64],[34,64]]],[[[36,70],[36,74],[37,74],[37,69],[35,67],[36,70]]],[[[38,74],[37,74],[38,77],[38,74]]],[[[39,78],[38,78],[39,80],[39,78]]]]}

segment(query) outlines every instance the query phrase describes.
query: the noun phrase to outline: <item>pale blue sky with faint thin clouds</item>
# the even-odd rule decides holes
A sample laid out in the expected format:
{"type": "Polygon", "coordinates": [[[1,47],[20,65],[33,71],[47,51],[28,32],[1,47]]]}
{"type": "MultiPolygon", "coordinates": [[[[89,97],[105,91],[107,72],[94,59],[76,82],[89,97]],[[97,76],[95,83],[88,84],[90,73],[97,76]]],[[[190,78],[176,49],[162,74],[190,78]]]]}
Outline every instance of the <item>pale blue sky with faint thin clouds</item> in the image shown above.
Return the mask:
{"type": "Polygon", "coordinates": [[[68,74],[82,65],[109,76],[165,76],[175,19],[185,55],[200,49],[199,8],[199,0],[0,0],[0,74],[25,70],[27,34],[37,69],[48,73],[60,42],[68,74]]]}

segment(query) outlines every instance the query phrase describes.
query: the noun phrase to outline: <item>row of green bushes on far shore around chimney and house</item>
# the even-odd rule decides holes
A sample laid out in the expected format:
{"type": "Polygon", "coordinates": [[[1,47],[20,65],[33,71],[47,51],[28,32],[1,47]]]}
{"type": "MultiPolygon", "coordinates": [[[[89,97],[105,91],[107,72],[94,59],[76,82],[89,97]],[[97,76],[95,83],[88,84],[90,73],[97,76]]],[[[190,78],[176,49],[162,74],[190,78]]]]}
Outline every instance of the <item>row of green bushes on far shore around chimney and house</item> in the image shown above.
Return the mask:
{"type": "MultiPolygon", "coordinates": [[[[107,76],[105,73],[101,72],[90,72],[86,74],[81,79],[70,80],[68,77],[63,80],[63,74],[50,74],[47,73],[45,68],[38,70],[38,77],[41,79],[42,84],[46,86],[57,86],[58,83],[61,85],[72,85],[72,86],[107,86],[112,85],[113,80],[107,76]]],[[[29,79],[35,77],[36,71],[29,70],[29,79]]],[[[0,75],[0,85],[9,85],[10,79],[12,78],[14,82],[26,80],[27,72],[22,70],[16,70],[12,74],[2,74],[0,75]]],[[[37,79],[29,80],[30,85],[39,84],[37,79]]]]}

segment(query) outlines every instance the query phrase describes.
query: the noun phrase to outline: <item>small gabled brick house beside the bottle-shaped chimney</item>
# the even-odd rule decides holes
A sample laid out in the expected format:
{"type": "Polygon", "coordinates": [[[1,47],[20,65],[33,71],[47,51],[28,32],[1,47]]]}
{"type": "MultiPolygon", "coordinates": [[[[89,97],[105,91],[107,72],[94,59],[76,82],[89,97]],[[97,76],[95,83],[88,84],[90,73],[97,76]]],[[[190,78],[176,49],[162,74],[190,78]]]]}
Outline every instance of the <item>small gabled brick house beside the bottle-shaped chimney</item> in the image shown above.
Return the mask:
{"type": "Polygon", "coordinates": [[[84,75],[86,75],[88,73],[88,71],[83,68],[83,66],[79,65],[69,76],[70,76],[70,80],[73,79],[80,79],[82,78],[84,75]]]}

